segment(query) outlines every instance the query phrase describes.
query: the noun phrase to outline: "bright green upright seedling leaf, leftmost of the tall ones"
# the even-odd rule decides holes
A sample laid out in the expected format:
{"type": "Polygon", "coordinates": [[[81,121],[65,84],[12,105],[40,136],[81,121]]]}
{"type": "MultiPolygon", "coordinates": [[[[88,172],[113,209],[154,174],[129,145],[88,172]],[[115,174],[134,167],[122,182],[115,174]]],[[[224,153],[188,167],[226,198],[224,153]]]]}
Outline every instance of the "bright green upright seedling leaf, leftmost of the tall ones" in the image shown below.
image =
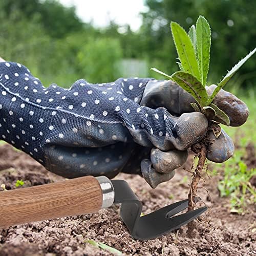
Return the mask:
{"type": "Polygon", "coordinates": [[[185,72],[200,79],[197,58],[193,44],[186,31],[176,22],[170,24],[177,53],[185,72]]]}

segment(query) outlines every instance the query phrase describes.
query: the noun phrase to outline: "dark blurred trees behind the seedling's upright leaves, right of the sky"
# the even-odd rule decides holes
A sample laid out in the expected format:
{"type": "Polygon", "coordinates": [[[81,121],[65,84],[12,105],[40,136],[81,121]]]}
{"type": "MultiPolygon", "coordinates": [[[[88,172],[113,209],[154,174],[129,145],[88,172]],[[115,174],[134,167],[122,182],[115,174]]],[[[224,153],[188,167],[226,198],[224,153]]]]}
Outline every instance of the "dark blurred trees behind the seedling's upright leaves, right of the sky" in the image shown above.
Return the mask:
{"type": "MultiPolygon", "coordinates": [[[[237,59],[253,49],[256,41],[256,8],[253,0],[146,0],[148,11],[143,13],[140,33],[147,37],[145,49],[159,63],[161,70],[172,73],[178,70],[173,40],[170,38],[170,20],[175,20],[186,30],[194,24],[199,15],[207,17],[212,27],[211,76],[221,76],[237,59]],[[222,54],[225,53],[225,54],[222,54]]],[[[248,61],[243,68],[244,79],[256,77],[254,63],[248,61]]],[[[157,65],[154,63],[153,66],[157,65]]]]}

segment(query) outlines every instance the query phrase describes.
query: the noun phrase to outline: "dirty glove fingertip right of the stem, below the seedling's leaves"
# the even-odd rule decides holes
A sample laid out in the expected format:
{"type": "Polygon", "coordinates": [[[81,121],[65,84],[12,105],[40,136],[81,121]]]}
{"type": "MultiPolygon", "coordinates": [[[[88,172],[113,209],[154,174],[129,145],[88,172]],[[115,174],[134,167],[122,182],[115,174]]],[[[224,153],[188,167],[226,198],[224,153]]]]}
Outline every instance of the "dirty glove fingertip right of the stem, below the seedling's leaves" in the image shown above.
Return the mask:
{"type": "Polygon", "coordinates": [[[216,163],[223,163],[234,153],[232,139],[222,130],[221,135],[216,138],[213,132],[209,132],[210,145],[207,147],[207,159],[216,163]]]}

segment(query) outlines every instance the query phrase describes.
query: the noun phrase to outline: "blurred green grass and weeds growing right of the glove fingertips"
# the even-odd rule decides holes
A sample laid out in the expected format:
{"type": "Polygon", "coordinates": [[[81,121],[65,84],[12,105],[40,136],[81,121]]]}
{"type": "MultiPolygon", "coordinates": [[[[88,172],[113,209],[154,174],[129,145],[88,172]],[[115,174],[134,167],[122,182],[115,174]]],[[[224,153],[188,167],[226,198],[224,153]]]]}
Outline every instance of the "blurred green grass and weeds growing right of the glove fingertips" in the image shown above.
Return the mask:
{"type": "MultiPolygon", "coordinates": [[[[236,93],[236,91],[234,91],[236,93]]],[[[256,105],[255,95],[250,91],[250,97],[242,98],[249,110],[247,122],[241,127],[224,129],[236,145],[234,155],[223,164],[215,164],[212,175],[221,173],[218,189],[222,197],[229,197],[230,211],[243,214],[248,210],[248,204],[256,203],[256,189],[251,182],[256,176],[254,163],[256,156],[256,105]]]]}

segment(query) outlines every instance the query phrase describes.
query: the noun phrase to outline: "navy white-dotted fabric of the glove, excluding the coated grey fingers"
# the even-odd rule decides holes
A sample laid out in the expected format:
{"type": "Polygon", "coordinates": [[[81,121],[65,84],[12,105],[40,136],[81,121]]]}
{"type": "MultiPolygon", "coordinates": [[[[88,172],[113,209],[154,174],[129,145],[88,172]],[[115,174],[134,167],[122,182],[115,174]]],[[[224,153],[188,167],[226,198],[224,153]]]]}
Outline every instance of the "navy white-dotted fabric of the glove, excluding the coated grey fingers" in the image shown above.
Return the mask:
{"type": "Polygon", "coordinates": [[[113,177],[134,145],[142,146],[139,155],[144,146],[164,143],[165,110],[139,105],[149,80],[80,79],[68,90],[46,89],[26,67],[1,62],[0,138],[59,175],[113,177]]]}

